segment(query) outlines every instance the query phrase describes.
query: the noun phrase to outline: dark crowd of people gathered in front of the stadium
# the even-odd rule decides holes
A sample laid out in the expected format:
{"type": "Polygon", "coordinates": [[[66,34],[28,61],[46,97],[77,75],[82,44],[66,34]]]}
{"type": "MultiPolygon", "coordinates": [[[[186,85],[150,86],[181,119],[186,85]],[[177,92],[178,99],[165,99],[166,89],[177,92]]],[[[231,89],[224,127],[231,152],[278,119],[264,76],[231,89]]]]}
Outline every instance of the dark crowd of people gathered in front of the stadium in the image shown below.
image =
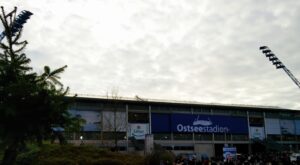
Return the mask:
{"type": "Polygon", "coordinates": [[[197,158],[177,156],[173,165],[300,165],[300,159],[291,161],[290,153],[238,154],[234,159],[222,157],[197,158]]]}

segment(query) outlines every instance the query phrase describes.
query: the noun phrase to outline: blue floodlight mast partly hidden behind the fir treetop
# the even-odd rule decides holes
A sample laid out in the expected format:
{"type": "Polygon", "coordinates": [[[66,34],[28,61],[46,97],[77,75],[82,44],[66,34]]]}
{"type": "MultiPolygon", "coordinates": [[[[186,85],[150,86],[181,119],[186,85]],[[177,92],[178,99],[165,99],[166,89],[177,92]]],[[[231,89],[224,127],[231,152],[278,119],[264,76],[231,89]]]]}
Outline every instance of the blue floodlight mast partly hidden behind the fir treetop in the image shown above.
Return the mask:
{"type": "MultiPolygon", "coordinates": [[[[1,8],[2,8],[2,13],[4,13],[3,6],[1,6],[1,8]]],[[[16,12],[17,12],[17,8],[15,7],[15,9],[13,11],[11,11],[10,13],[8,13],[6,15],[4,14],[5,15],[4,19],[6,19],[7,17],[10,17],[10,20],[12,20],[12,19],[14,20],[12,22],[12,28],[11,28],[11,32],[10,32],[11,36],[15,36],[17,32],[20,32],[23,28],[23,24],[25,24],[26,21],[30,18],[30,16],[33,15],[33,13],[31,13],[30,11],[23,10],[17,16],[17,18],[15,18],[16,12]]],[[[4,21],[4,20],[2,20],[2,21],[4,21]]],[[[7,33],[6,31],[3,31],[0,34],[0,42],[7,35],[6,33],[7,33]]]]}

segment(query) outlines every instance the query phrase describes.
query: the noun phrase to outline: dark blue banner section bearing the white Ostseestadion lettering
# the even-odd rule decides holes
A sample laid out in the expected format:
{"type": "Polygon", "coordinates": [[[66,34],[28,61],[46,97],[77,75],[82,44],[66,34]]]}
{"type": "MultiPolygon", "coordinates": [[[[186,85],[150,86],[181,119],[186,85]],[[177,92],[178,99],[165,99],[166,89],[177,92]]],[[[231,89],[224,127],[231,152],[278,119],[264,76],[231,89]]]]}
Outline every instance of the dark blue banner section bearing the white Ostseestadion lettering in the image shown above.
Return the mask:
{"type": "Polygon", "coordinates": [[[248,133],[245,117],[172,114],[171,124],[173,132],[248,133]]]}

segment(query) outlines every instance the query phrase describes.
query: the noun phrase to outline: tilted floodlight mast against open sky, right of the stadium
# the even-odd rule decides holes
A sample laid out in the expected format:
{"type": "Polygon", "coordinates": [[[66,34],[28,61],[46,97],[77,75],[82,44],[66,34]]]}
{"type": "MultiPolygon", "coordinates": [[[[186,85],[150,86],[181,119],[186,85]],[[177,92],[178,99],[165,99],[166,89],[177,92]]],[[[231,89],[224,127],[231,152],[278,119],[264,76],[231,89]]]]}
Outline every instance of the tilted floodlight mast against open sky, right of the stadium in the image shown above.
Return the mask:
{"type": "Polygon", "coordinates": [[[294,81],[294,83],[299,87],[300,89],[300,82],[297,80],[297,78],[292,74],[292,72],[285,67],[285,65],[275,56],[275,54],[269,49],[267,46],[261,46],[259,49],[262,51],[263,54],[267,58],[269,58],[270,61],[272,61],[273,65],[275,65],[276,69],[283,69],[285,73],[294,81]]]}

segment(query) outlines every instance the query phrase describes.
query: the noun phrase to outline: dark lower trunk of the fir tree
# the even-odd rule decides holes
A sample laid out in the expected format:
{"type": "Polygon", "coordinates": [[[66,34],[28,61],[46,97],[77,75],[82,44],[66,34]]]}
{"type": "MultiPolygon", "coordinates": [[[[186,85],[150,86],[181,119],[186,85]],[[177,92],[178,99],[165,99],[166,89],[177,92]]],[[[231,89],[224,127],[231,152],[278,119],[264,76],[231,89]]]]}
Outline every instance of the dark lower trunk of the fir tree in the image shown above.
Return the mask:
{"type": "Polygon", "coordinates": [[[18,155],[18,146],[19,142],[15,141],[5,149],[1,165],[12,165],[15,163],[18,155]]]}

